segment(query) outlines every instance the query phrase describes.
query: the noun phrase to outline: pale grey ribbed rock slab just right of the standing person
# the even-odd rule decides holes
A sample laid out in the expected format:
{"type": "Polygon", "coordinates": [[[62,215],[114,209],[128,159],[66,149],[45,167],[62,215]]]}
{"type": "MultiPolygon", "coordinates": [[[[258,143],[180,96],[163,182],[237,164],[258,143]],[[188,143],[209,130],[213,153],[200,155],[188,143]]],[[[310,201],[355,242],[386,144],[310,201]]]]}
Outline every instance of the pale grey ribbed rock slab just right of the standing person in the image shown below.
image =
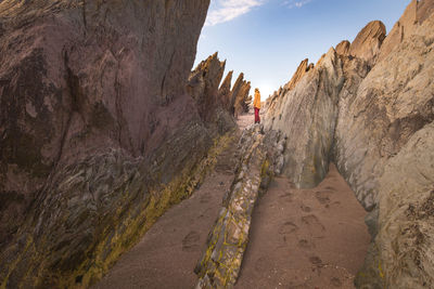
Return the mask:
{"type": "Polygon", "coordinates": [[[328,172],[343,81],[342,61],[331,49],[294,90],[278,98],[281,104],[272,115],[267,113],[266,130],[291,140],[283,173],[299,187],[317,185],[328,172]]]}

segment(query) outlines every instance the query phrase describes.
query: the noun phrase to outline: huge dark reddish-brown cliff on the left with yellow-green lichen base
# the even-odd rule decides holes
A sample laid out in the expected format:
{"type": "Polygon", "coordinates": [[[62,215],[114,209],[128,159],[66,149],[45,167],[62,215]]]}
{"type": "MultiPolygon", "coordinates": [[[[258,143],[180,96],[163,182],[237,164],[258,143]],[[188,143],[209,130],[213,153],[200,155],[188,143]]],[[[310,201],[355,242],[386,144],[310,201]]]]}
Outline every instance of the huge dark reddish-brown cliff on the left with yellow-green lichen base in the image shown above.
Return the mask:
{"type": "Polygon", "coordinates": [[[0,287],[92,284],[197,185],[208,4],[0,2],[0,287]]]}

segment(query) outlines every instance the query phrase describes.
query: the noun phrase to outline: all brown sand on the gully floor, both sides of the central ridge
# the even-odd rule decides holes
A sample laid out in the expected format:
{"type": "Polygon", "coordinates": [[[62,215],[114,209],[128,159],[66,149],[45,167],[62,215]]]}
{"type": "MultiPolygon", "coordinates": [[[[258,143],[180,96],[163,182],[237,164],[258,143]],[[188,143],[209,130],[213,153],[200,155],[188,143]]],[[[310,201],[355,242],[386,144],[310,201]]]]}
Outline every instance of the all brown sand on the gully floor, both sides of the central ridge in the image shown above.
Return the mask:
{"type": "MultiPolygon", "coordinates": [[[[238,122],[245,128],[253,114],[238,122]]],[[[94,288],[194,288],[193,268],[233,179],[234,149],[235,144],[193,196],[169,209],[94,288]]],[[[333,165],[312,189],[275,179],[255,208],[235,288],[354,288],[370,241],[365,215],[333,165]]]]}

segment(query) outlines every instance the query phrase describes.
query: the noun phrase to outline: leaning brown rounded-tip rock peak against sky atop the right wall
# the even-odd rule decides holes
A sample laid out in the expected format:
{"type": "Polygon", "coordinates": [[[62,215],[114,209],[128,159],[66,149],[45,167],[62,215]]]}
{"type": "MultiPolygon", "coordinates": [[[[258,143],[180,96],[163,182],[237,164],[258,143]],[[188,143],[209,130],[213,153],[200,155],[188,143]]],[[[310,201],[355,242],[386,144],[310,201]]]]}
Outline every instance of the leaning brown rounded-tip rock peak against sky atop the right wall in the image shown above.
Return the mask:
{"type": "Polygon", "coordinates": [[[386,37],[386,27],[380,21],[368,23],[349,47],[349,54],[366,60],[372,65],[386,37]]]}

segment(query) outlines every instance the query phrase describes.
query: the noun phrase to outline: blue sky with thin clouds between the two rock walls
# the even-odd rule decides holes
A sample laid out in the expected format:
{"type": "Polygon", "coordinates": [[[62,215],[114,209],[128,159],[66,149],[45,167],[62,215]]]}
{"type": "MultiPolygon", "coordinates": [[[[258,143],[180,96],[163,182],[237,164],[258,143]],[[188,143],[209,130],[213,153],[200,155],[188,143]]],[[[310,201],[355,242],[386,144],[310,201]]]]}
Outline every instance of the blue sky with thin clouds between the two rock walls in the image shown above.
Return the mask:
{"type": "MultiPolygon", "coordinates": [[[[371,21],[392,29],[410,0],[210,0],[194,67],[218,52],[259,88],[263,100],[286,83],[299,63],[342,40],[353,41],[371,21]]],[[[251,93],[253,89],[251,90],[251,93]]]]}

